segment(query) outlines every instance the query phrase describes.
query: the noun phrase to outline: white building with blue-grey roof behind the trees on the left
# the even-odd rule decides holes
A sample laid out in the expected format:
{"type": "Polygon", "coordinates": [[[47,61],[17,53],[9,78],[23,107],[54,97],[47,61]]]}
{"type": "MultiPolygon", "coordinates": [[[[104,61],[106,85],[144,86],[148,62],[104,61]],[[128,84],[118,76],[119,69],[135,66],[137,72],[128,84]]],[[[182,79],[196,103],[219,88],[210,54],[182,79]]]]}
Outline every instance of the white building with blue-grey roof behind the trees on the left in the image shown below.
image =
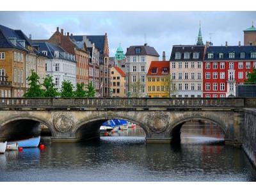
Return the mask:
{"type": "Polygon", "coordinates": [[[47,56],[45,63],[46,75],[52,76],[56,88],[61,90],[63,81],[70,81],[76,88],[76,60],[61,47],[48,42],[33,42],[34,47],[47,56]]]}

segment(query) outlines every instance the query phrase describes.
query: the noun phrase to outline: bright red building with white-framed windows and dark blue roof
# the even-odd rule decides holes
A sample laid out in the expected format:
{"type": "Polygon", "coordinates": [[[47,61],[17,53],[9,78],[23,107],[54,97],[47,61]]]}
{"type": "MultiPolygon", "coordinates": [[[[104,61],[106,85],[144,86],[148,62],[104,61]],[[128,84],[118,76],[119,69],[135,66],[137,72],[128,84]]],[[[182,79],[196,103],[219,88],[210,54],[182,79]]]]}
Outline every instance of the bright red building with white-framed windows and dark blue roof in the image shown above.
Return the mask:
{"type": "Polygon", "coordinates": [[[256,67],[256,46],[209,46],[205,51],[203,97],[234,97],[236,85],[256,67]]]}

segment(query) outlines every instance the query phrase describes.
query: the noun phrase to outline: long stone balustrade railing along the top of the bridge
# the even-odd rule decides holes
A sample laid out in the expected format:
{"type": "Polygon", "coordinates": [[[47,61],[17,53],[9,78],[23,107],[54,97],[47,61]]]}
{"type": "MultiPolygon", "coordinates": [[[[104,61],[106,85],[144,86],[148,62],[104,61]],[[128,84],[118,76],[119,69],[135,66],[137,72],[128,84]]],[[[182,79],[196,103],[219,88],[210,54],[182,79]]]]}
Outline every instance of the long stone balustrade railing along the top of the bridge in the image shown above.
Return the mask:
{"type": "Polygon", "coordinates": [[[256,108],[256,98],[0,98],[0,109],[256,108]]]}

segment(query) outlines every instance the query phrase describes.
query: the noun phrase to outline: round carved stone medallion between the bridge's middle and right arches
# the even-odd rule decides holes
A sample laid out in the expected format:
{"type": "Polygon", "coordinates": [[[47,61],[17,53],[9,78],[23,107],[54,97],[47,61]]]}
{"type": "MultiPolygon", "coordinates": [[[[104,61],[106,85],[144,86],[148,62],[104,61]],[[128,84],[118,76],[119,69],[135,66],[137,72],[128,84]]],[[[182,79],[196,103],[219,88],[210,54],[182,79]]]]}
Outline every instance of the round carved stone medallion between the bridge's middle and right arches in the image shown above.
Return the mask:
{"type": "Polygon", "coordinates": [[[153,132],[164,132],[170,125],[170,117],[163,111],[150,112],[147,115],[147,125],[153,132]]]}

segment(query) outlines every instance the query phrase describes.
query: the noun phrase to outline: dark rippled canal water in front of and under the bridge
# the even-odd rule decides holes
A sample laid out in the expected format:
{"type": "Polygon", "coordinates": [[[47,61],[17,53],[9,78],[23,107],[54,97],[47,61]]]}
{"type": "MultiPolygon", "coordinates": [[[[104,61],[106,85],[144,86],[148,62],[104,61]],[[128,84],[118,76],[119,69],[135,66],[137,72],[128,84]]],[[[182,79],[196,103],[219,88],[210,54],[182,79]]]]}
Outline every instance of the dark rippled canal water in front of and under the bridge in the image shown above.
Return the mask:
{"type": "Polygon", "coordinates": [[[241,148],[214,125],[184,125],[180,145],[145,143],[137,127],[90,143],[0,154],[1,181],[256,181],[241,148]]]}

